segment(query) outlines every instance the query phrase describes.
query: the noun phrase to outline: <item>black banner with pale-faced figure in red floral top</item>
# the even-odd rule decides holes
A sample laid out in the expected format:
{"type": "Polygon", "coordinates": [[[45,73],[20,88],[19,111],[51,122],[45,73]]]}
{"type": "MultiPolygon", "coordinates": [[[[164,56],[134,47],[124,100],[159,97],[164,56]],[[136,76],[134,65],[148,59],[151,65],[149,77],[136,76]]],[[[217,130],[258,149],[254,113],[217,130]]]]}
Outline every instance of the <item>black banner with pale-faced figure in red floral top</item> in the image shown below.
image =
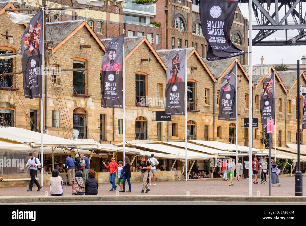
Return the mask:
{"type": "Polygon", "coordinates": [[[122,63],[124,34],[108,43],[102,59],[101,107],[123,108],[122,63]]]}

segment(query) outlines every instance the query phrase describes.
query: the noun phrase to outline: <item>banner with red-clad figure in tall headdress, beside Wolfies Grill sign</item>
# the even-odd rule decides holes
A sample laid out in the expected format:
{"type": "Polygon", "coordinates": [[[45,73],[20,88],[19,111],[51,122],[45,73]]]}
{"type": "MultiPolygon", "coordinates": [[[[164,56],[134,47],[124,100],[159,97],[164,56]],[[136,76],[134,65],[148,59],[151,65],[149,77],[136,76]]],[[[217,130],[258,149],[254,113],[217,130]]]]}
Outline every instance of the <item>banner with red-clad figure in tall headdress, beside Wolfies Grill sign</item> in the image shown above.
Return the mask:
{"type": "Polygon", "coordinates": [[[165,111],[167,115],[185,115],[185,58],[186,49],[167,55],[165,111]]]}

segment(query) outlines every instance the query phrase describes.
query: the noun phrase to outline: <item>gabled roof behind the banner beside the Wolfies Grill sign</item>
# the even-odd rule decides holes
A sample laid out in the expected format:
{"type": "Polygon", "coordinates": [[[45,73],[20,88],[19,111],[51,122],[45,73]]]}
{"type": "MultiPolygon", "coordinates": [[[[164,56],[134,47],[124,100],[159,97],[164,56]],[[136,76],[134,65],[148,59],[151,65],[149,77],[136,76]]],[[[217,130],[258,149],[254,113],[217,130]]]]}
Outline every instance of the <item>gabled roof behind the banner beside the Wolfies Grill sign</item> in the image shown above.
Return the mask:
{"type": "MultiPolygon", "coordinates": [[[[169,62],[167,59],[167,55],[180,51],[184,48],[177,48],[177,49],[162,49],[162,50],[156,50],[157,54],[159,55],[159,57],[162,59],[162,61],[164,62],[164,64],[166,65],[166,67],[168,68],[169,66],[169,62]]],[[[215,82],[215,78],[212,75],[211,71],[209,70],[209,68],[207,67],[207,65],[204,63],[203,59],[200,57],[199,53],[196,51],[196,49],[194,47],[189,47],[186,49],[186,55],[187,55],[187,60],[189,57],[191,57],[192,54],[195,54],[196,57],[199,59],[199,61],[201,62],[202,66],[205,68],[205,70],[207,71],[208,75],[211,77],[211,79],[215,82]]]]}

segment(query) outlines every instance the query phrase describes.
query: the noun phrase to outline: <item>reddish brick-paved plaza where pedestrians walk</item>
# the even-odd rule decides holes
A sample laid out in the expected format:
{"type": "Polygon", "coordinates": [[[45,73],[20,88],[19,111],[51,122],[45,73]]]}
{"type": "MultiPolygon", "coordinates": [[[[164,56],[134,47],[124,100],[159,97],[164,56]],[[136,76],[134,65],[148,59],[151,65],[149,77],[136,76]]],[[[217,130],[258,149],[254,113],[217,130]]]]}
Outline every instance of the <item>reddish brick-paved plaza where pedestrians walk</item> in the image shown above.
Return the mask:
{"type": "MultiPolygon", "coordinates": [[[[272,196],[294,196],[294,175],[292,177],[280,177],[281,186],[271,187],[272,196]]],[[[303,182],[303,193],[306,194],[306,178],[303,182]]],[[[157,182],[156,186],[150,186],[151,191],[143,195],[183,195],[187,191],[190,195],[248,195],[248,180],[233,181],[234,186],[229,186],[229,181],[221,180],[190,180],[190,181],[166,181],[157,182]]],[[[268,195],[268,184],[252,184],[253,195],[268,195]]],[[[63,186],[64,194],[71,195],[72,186],[63,186]]],[[[142,184],[132,183],[132,193],[124,193],[125,195],[140,195],[142,184]]],[[[126,188],[128,184],[126,183],[126,188]]],[[[99,184],[98,195],[111,195],[115,192],[109,191],[110,184],[99,184]]],[[[118,189],[118,188],[117,188],[118,189]]],[[[49,191],[49,186],[43,186],[40,191],[36,191],[37,187],[34,185],[32,192],[27,192],[28,187],[6,187],[0,188],[0,196],[24,196],[24,195],[45,195],[49,191]]],[[[121,193],[121,192],[120,192],[121,193]]]]}

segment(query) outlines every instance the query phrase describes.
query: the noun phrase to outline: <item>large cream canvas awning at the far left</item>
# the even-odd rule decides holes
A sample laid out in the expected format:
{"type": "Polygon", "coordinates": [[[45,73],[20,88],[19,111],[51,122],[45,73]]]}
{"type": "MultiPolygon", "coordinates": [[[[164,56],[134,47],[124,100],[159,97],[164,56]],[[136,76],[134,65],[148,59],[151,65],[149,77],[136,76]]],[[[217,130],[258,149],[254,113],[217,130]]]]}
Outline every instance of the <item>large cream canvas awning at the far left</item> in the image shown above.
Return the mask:
{"type": "MultiPolygon", "coordinates": [[[[15,144],[28,144],[33,147],[41,145],[41,133],[17,127],[0,127],[0,139],[12,141],[15,144]]],[[[84,150],[97,149],[97,144],[94,142],[73,141],[47,134],[43,134],[43,146],[84,150]]]]}

